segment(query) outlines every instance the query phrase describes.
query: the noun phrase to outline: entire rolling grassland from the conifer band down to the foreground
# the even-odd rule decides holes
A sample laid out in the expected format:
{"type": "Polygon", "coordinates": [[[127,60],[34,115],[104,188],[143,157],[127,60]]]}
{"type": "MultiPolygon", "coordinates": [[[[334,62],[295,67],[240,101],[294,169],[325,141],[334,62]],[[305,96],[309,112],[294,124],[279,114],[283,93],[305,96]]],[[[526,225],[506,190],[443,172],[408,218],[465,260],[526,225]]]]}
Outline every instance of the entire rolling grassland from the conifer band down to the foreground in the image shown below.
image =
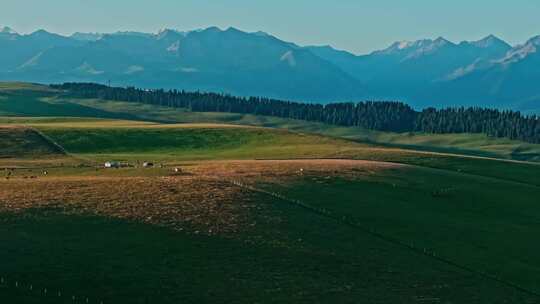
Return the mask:
{"type": "Polygon", "coordinates": [[[490,158],[535,145],[18,85],[0,86],[2,300],[540,302],[540,165],[490,158]]]}

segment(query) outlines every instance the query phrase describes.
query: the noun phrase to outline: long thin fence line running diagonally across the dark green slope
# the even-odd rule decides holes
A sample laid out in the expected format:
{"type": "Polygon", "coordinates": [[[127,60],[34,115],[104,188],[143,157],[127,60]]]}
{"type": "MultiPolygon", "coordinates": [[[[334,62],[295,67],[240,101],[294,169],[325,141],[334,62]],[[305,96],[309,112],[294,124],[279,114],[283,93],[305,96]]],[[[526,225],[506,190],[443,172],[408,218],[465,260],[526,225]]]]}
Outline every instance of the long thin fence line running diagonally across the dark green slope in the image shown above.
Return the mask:
{"type": "Polygon", "coordinates": [[[493,275],[493,274],[487,273],[487,272],[482,271],[482,270],[476,270],[476,269],[474,269],[472,267],[462,265],[462,264],[460,264],[458,262],[454,262],[454,261],[452,261],[450,259],[447,259],[445,257],[437,255],[435,253],[435,251],[433,251],[433,250],[429,250],[427,248],[415,247],[413,242],[405,242],[405,241],[400,240],[398,238],[385,235],[385,234],[383,234],[381,232],[378,232],[375,228],[366,227],[364,225],[361,225],[357,220],[354,220],[353,218],[350,218],[350,217],[347,217],[347,216],[344,216],[344,215],[339,216],[337,214],[332,213],[331,211],[329,211],[327,209],[314,207],[314,206],[311,206],[311,205],[309,205],[309,204],[307,204],[305,202],[302,202],[301,200],[288,198],[283,194],[268,191],[268,190],[264,190],[264,189],[260,189],[260,188],[254,187],[252,185],[244,184],[244,183],[242,183],[241,181],[238,181],[238,180],[229,180],[228,182],[230,182],[231,184],[233,184],[233,185],[235,185],[237,187],[240,187],[240,188],[243,188],[243,189],[246,189],[246,190],[249,190],[249,191],[258,192],[258,193],[261,193],[261,194],[272,196],[272,197],[277,198],[277,199],[279,199],[281,201],[284,201],[284,202],[296,205],[298,207],[301,207],[301,208],[303,208],[305,210],[308,210],[308,211],[310,211],[312,213],[316,213],[318,215],[321,215],[321,216],[333,219],[335,221],[341,222],[341,223],[343,223],[345,225],[351,226],[351,227],[353,227],[353,228],[355,228],[355,229],[357,229],[359,231],[362,231],[362,232],[364,232],[366,234],[369,234],[369,235],[371,235],[373,237],[384,240],[384,241],[386,241],[388,243],[397,245],[399,247],[406,248],[406,249],[411,250],[411,251],[413,251],[413,252],[415,252],[417,254],[429,257],[431,259],[437,260],[437,261],[442,262],[444,264],[459,268],[461,270],[465,270],[467,272],[478,275],[478,276],[480,276],[482,278],[498,282],[500,284],[503,284],[505,286],[517,289],[517,290],[519,290],[521,292],[524,292],[526,294],[533,295],[533,296],[536,296],[536,297],[540,297],[540,293],[537,292],[537,291],[530,290],[530,289],[528,289],[526,287],[523,287],[523,286],[521,286],[521,285],[519,285],[517,283],[507,281],[507,280],[501,278],[500,276],[493,275]]]}

